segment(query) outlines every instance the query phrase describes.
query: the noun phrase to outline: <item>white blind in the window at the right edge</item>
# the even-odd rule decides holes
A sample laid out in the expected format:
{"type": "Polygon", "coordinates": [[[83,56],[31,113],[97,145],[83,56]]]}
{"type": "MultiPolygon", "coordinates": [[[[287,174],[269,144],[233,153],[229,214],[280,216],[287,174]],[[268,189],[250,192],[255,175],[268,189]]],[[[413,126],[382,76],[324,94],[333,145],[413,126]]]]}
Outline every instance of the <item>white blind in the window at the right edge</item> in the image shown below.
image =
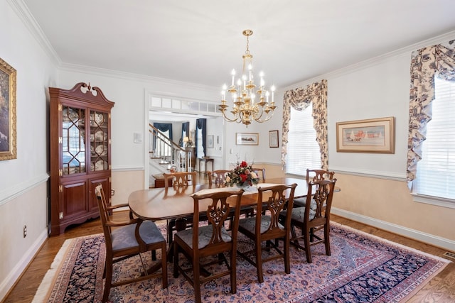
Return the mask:
{"type": "Polygon", "coordinates": [[[455,82],[435,77],[432,121],[427,124],[414,194],[455,199],[455,82]]]}

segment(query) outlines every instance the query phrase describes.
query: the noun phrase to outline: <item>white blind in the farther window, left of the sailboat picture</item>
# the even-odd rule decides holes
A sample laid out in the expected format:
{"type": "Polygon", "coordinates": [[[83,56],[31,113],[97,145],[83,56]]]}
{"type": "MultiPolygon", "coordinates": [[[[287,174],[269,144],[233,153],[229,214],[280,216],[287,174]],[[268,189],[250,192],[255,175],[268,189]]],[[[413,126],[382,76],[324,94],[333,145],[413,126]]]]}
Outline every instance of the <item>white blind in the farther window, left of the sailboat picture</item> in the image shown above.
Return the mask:
{"type": "Polygon", "coordinates": [[[304,111],[291,108],[287,143],[286,173],[306,175],[306,169],[321,169],[321,152],[311,116],[312,106],[304,111]]]}

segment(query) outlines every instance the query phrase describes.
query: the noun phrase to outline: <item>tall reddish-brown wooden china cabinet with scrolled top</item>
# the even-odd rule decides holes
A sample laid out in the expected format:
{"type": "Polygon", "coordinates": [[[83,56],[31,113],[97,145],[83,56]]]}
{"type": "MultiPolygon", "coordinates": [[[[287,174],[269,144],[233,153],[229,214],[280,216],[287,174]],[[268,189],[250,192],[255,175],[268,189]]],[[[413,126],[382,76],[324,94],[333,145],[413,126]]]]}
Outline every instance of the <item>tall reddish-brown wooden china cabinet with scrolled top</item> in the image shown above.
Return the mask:
{"type": "Polygon", "coordinates": [[[93,191],[101,183],[110,203],[110,111],[101,89],[77,83],[50,94],[50,235],[100,216],[93,191]]]}

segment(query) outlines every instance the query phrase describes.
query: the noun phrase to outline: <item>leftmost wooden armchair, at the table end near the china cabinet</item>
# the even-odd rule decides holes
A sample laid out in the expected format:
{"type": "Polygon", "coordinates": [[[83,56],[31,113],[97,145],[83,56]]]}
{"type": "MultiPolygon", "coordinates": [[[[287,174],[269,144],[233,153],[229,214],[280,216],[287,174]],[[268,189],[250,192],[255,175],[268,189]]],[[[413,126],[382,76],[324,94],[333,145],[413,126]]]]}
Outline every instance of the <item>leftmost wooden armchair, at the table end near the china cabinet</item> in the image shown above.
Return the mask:
{"type": "Polygon", "coordinates": [[[166,239],[159,228],[152,221],[142,221],[141,219],[129,219],[128,221],[113,221],[109,216],[109,211],[119,206],[107,206],[105,192],[102,184],[95,187],[95,199],[100,209],[100,217],[103,233],[105,235],[106,262],[105,262],[105,290],[102,302],[107,302],[109,292],[112,287],[126,285],[142,280],[149,280],[153,277],[161,277],[163,288],[168,287],[168,275],[166,264],[166,239]],[[154,252],[161,250],[161,265],[158,263],[156,268],[161,267],[161,272],[147,270],[142,253],[147,251],[154,252]],[[112,282],[113,265],[121,260],[139,255],[144,272],[137,272],[137,275],[130,275],[129,279],[112,282]]]}

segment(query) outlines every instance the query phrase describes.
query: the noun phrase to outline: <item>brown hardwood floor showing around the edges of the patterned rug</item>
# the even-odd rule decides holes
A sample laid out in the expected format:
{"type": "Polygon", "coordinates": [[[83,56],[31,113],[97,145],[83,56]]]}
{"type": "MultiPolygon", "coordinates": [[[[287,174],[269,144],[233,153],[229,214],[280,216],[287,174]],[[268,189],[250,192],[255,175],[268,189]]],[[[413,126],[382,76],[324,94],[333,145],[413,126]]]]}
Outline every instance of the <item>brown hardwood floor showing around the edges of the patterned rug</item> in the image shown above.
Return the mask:
{"type": "MultiPolygon", "coordinates": [[[[118,219],[127,219],[127,211],[116,212],[114,213],[114,216],[118,219]]],[[[398,236],[394,233],[382,231],[373,226],[360,224],[349,219],[332,216],[332,220],[439,257],[444,258],[443,254],[446,252],[446,250],[441,248],[398,236]]],[[[60,250],[63,242],[68,238],[87,236],[94,233],[102,233],[100,219],[93,219],[84,224],[80,224],[79,226],[70,226],[62,235],[48,238],[31,264],[28,265],[26,271],[23,272],[20,280],[18,280],[14,288],[9,292],[9,295],[2,302],[31,302],[41,280],[50,268],[50,264],[53,262],[53,259],[58,253],[58,250],[60,250]]],[[[433,277],[422,290],[417,292],[417,294],[414,294],[414,297],[407,302],[455,302],[455,260],[449,260],[451,260],[452,263],[447,265],[436,277],[433,277]]]]}

